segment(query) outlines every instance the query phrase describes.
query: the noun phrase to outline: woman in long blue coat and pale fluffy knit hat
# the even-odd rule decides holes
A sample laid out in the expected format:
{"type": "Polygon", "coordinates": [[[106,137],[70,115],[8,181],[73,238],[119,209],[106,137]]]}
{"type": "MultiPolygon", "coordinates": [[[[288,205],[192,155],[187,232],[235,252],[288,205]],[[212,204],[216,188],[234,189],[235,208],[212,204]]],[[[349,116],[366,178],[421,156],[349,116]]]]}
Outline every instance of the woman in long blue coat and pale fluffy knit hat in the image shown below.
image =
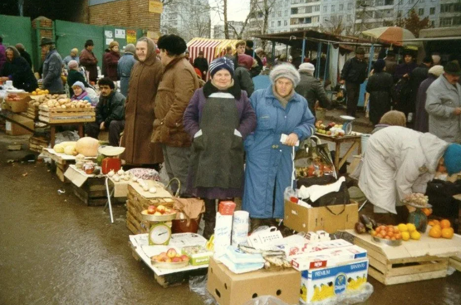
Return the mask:
{"type": "Polygon", "coordinates": [[[255,91],[250,98],[257,126],[245,140],[242,207],[250,214],[252,229],[284,217],[284,190],[292,182],[293,146],[314,133],[315,117],[306,99],[294,91],[299,72],[291,64],[281,64],[271,71],[270,79],[270,87],[255,91]],[[283,134],[288,136],[284,143],[280,141],[283,134]]]}

